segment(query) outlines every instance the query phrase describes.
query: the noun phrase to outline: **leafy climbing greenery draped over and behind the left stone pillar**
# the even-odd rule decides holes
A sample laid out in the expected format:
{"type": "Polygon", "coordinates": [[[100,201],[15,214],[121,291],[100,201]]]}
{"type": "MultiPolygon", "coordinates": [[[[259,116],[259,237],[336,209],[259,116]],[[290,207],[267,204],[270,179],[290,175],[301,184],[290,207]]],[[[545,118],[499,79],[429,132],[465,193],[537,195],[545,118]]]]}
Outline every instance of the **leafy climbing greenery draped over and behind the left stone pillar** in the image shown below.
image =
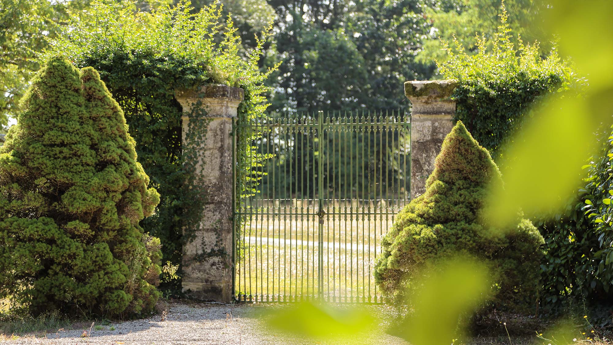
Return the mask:
{"type": "MultiPolygon", "coordinates": [[[[245,90],[245,101],[238,109],[238,121],[249,122],[264,117],[267,107],[262,85],[267,77],[259,71],[261,42],[245,56],[240,52],[240,37],[231,21],[223,21],[219,6],[204,6],[191,14],[188,2],[160,6],[141,12],[132,2],[103,4],[94,2],[83,20],[66,26],[63,38],[53,44],[50,53],[63,52],[77,66],[93,66],[126,114],[136,150],[151,184],[162,195],[155,215],[142,222],[151,234],[162,241],[163,262],[181,263],[183,231],[190,233],[202,219],[205,192],[200,188],[183,188],[191,174],[185,162],[194,161],[197,152],[181,147],[180,104],[175,90],[207,83],[224,83],[245,90]]],[[[194,114],[191,114],[194,115],[194,114]]],[[[190,124],[196,122],[190,122],[190,124]]],[[[194,128],[189,133],[201,133],[194,128]]],[[[237,142],[239,181],[251,175],[259,155],[251,146],[257,133],[239,133],[237,142]]],[[[257,177],[238,186],[251,193],[257,177]],[[253,184],[253,185],[252,185],[253,184]]],[[[189,237],[189,236],[187,236],[189,237]]],[[[164,269],[162,289],[180,292],[181,266],[178,276],[164,269]]]]}

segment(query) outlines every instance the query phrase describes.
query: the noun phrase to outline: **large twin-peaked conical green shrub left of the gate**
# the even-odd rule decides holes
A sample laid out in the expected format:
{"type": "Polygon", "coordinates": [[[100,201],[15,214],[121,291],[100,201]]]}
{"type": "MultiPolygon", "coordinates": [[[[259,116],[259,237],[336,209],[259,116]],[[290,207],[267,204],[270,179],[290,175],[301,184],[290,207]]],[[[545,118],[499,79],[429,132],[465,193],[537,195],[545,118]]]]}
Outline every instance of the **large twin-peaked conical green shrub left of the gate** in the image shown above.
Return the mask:
{"type": "Polygon", "coordinates": [[[152,311],[159,195],[118,104],[93,68],[53,58],[0,147],[0,300],[32,314],[152,311]]]}

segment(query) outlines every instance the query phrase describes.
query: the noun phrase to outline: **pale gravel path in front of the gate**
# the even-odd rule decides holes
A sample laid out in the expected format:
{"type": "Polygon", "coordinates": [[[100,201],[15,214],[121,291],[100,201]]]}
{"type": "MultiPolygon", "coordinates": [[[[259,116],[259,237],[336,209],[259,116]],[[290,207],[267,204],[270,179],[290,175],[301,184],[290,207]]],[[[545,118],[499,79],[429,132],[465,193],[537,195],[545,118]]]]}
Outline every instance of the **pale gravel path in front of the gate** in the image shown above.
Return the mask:
{"type": "MultiPolygon", "coordinates": [[[[45,338],[25,336],[5,341],[3,344],[327,344],[326,341],[310,341],[280,335],[267,329],[262,314],[274,305],[250,304],[170,304],[166,320],[154,316],[145,320],[132,320],[110,325],[103,330],[92,330],[82,338],[83,329],[60,330],[47,333],[45,338]]],[[[89,328],[87,328],[89,331],[89,328]]],[[[0,341],[1,342],[1,341],[0,341]]],[[[332,343],[330,343],[332,344],[332,343]]],[[[335,341],[334,344],[340,344],[335,341]]],[[[346,344],[407,344],[400,338],[387,335],[383,331],[360,337],[346,344]]]]}

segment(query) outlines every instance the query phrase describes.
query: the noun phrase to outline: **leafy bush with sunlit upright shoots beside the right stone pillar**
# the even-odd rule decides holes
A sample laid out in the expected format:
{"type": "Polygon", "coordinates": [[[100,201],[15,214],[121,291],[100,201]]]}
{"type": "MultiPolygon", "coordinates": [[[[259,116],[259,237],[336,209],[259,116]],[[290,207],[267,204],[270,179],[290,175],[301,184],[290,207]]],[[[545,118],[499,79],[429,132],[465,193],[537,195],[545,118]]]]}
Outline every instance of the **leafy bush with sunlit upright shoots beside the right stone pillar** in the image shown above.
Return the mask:
{"type": "Polygon", "coordinates": [[[452,47],[444,42],[448,59],[438,64],[441,74],[459,82],[452,95],[457,102],[455,120],[465,123],[499,164],[528,108],[570,78],[555,49],[541,58],[538,42],[524,45],[519,35],[511,33],[507,20],[503,5],[492,39],[477,36],[476,53],[457,39],[452,47]]]}

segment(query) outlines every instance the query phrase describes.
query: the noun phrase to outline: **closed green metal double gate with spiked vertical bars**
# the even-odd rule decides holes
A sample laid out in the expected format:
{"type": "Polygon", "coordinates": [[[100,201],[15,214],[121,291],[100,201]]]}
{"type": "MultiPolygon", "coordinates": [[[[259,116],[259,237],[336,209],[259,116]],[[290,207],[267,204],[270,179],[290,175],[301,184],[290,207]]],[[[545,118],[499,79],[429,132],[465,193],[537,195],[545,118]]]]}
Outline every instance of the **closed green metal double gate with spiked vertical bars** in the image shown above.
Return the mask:
{"type": "Polygon", "coordinates": [[[235,300],[382,303],[372,269],[411,195],[409,115],[319,112],[235,130],[259,134],[251,155],[265,158],[235,209],[235,300]]]}

